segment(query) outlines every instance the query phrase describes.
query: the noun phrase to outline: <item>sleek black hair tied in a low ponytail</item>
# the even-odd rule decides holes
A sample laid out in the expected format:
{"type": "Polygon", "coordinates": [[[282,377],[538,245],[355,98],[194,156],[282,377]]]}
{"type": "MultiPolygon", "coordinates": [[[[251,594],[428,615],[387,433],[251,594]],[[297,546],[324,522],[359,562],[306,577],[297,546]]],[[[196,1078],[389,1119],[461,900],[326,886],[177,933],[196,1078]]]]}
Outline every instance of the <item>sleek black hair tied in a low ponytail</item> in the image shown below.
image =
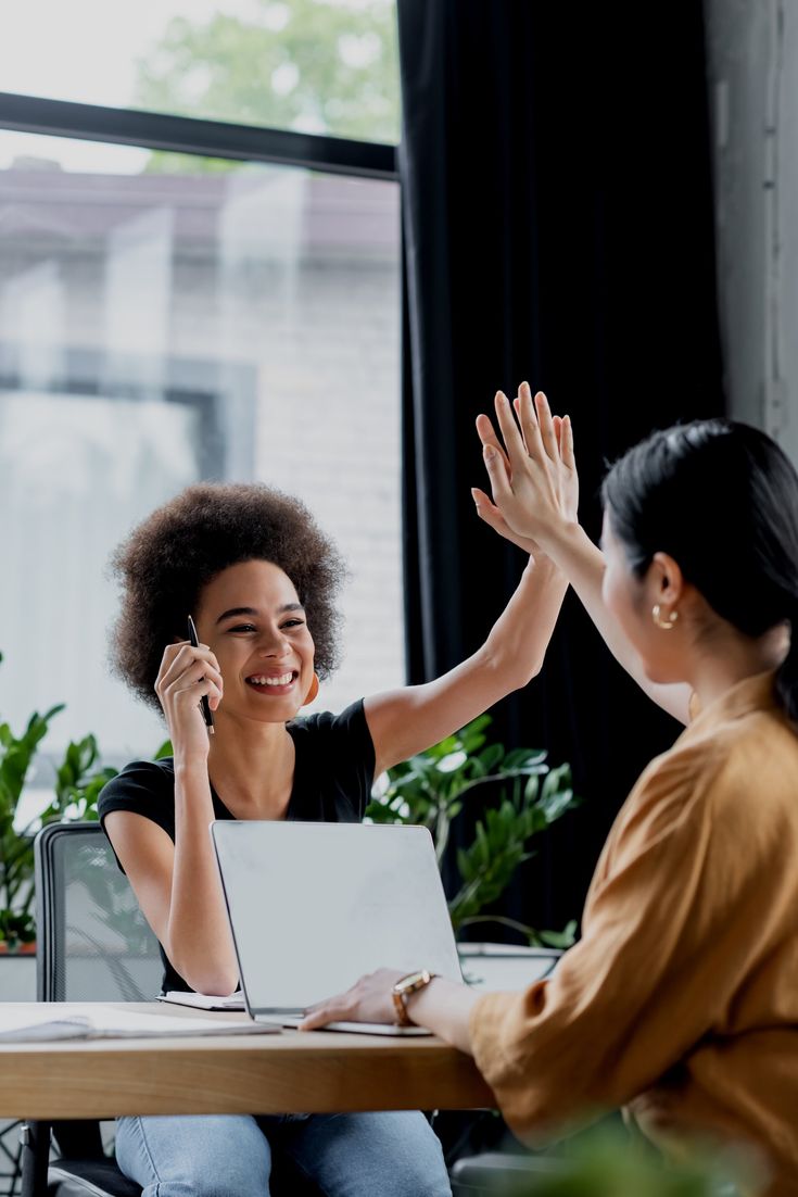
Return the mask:
{"type": "Polygon", "coordinates": [[[732,420],[677,425],[615,462],[602,497],[638,576],[668,553],[745,636],[791,624],[775,685],[798,721],[798,474],[779,445],[732,420]]]}

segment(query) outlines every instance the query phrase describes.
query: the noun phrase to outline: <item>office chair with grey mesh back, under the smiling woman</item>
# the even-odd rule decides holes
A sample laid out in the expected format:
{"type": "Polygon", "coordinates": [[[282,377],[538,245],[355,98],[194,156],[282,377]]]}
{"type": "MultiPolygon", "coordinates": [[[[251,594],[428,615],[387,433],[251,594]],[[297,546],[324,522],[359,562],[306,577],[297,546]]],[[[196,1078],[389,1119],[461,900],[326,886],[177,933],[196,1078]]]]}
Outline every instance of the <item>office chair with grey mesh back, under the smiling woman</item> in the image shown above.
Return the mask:
{"type": "MultiPolygon", "coordinates": [[[[36,837],[33,858],[37,999],[152,1001],[163,979],[158,941],[99,824],[50,824],[36,837]]],[[[22,1142],[22,1197],[141,1197],[105,1155],[97,1120],[31,1122],[22,1142]]],[[[319,1197],[281,1153],[272,1181],[275,1197],[319,1197]]]]}

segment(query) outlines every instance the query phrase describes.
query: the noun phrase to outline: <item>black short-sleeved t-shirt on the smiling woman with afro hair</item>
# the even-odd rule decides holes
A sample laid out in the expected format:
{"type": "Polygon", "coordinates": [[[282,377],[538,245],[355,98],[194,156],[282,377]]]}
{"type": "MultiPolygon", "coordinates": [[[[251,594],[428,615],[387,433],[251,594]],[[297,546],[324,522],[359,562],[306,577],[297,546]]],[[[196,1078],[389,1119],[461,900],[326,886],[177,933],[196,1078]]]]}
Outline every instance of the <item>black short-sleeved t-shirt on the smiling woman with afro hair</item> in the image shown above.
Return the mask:
{"type": "MultiPolygon", "coordinates": [[[[363,700],[341,715],[323,711],[288,723],[294,742],[294,778],[286,819],[303,822],[359,822],[374,779],[374,745],[363,700]]],[[[217,819],[232,819],[211,786],[217,819]]],[[[175,840],[175,761],[135,760],[103,789],[97,802],[100,822],[111,810],[132,810],[152,819],[175,840]]],[[[120,864],[121,868],[121,864],[120,864]]],[[[191,986],[172,967],[163,947],[164,991],[191,986]]]]}

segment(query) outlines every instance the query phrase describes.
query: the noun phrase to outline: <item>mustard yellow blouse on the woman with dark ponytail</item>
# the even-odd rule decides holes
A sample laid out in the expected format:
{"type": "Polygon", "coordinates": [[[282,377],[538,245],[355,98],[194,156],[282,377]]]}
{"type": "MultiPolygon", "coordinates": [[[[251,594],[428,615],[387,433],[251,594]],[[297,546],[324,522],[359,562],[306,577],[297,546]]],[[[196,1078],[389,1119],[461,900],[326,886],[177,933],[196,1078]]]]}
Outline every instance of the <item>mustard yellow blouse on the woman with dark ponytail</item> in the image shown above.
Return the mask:
{"type": "Polygon", "coordinates": [[[530,1143],[626,1106],[669,1150],[748,1142],[798,1193],[798,735],[773,675],[702,711],[604,846],[583,938],[475,1004],[476,1062],[530,1143]]]}

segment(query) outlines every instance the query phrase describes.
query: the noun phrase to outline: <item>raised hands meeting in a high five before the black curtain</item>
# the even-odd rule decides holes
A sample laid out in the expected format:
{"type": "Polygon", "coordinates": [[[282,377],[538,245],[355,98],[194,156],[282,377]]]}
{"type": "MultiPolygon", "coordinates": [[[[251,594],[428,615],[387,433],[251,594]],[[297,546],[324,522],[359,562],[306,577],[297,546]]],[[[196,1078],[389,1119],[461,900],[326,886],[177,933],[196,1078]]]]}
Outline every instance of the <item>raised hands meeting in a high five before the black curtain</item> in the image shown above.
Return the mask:
{"type": "Polygon", "coordinates": [[[491,502],[483,491],[471,492],[477,511],[526,552],[534,553],[537,546],[547,552],[547,545],[577,519],[579,480],[571,419],[553,417],[542,391],[532,402],[526,383],[514,402],[518,423],[501,391],[495,411],[501,439],[487,415],[477,418],[493,494],[491,502]]]}

